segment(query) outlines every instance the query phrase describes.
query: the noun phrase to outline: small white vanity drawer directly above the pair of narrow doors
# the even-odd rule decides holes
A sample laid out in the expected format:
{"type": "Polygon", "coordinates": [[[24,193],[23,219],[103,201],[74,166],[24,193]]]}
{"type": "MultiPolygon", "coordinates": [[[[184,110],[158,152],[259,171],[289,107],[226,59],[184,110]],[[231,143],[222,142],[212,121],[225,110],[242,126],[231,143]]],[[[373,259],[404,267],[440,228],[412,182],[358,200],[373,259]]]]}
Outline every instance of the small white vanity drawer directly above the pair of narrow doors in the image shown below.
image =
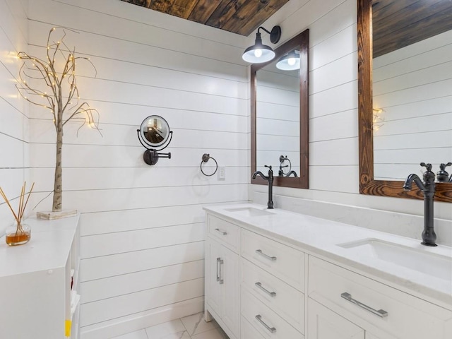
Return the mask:
{"type": "Polygon", "coordinates": [[[233,251],[239,251],[240,227],[213,215],[207,215],[208,234],[233,251]]]}

